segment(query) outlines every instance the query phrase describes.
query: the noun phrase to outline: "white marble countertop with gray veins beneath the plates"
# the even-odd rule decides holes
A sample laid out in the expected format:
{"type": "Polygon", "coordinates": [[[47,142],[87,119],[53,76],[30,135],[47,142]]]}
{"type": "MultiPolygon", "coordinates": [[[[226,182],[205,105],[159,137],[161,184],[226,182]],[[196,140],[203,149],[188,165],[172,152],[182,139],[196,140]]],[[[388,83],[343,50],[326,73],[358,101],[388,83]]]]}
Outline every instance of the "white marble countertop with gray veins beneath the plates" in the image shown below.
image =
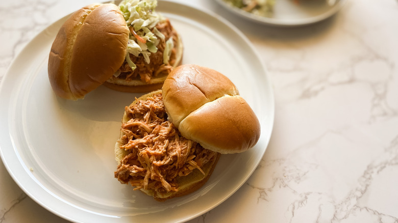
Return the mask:
{"type": "MultiPolygon", "coordinates": [[[[188,1],[187,1],[188,2],[188,1]]],[[[92,0],[2,0],[0,81],[44,27],[92,0]],[[62,11],[62,13],[60,13],[62,11]]],[[[248,23],[275,89],[270,144],[254,174],[195,222],[398,222],[398,2],[351,0],[324,22],[248,23]]],[[[31,200],[0,164],[0,222],[67,222],[31,200]]]]}

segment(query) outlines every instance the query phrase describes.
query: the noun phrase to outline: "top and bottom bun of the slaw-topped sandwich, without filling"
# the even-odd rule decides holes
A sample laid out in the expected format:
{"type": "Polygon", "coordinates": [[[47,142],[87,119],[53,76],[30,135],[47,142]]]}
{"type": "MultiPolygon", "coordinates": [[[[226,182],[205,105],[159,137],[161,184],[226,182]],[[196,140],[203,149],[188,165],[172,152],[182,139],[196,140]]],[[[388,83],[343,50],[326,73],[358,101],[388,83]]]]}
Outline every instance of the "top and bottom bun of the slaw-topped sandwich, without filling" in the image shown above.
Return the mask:
{"type": "MultiPolygon", "coordinates": [[[[93,4],[74,12],[61,26],[49,53],[48,78],[56,95],[77,100],[100,85],[122,92],[161,89],[169,70],[181,64],[183,44],[169,20],[159,17],[157,24],[169,25],[175,36],[170,55],[173,60],[162,64],[168,67],[167,72],[151,60],[145,66],[154,71],[150,71],[150,81],[145,82],[139,76],[129,79],[116,75],[126,63],[129,36],[133,32],[118,6],[93,4]]],[[[129,56],[135,57],[131,53],[129,56]]],[[[139,54],[135,58],[143,60],[144,56],[139,54]]],[[[144,73],[145,69],[137,66],[135,72],[144,73]]]]}

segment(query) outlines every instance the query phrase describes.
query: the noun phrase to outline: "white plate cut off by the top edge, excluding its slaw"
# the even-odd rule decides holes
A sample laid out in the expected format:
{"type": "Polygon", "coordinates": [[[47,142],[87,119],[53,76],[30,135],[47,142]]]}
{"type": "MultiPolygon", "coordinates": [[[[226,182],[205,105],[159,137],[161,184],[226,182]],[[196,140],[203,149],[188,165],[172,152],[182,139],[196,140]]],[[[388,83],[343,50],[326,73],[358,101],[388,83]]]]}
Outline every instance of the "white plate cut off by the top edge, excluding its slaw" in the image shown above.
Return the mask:
{"type": "Polygon", "coordinates": [[[336,14],[346,0],[275,0],[273,12],[259,16],[227,4],[224,0],[216,0],[235,15],[250,21],[276,26],[308,25],[327,19],[336,14]],[[299,2],[299,3],[297,3],[299,2]]]}

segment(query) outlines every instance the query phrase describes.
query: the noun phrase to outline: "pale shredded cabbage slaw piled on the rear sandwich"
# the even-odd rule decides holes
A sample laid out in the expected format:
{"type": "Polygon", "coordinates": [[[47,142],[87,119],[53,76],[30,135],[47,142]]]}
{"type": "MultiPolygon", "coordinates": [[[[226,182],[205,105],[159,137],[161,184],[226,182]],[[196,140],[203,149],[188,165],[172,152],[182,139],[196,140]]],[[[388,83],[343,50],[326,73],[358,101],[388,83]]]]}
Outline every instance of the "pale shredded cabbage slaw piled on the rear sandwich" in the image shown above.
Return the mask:
{"type": "Polygon", "coordinates": [[[142,54],[145,62],[149,64],[151,52],[158,51],[157,45],[160,42],[158,37],[164,39],[164,35],[156,28],[154,33],[151,32],[155,25],[163,19],[160,14],[155,12],[157,4],[157,0],[123,0],[119,4],[120,11],[131,31],[127,44],[126,61],[132,70],[136,69],[136,65],[131,61],[130,54],[136,57],[142,54]],[[135,34],[132,33],[132,29],[135,34]]]}

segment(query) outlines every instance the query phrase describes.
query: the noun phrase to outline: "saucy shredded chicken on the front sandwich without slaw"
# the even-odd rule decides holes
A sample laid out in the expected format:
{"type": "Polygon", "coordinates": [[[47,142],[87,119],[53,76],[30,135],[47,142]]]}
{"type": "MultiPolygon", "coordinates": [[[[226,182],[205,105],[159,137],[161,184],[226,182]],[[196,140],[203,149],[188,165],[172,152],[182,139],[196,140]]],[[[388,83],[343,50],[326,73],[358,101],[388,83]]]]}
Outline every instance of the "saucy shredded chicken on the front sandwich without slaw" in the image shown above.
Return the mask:
{"type": "Polygon", "coordinates": [[[130,120],[123,123],[120,149],[129,152],[117,166],[115,178],[129,183],[134,189],[153,189],[163,194],[177,191],[178,176],[194,169],[205,174],[204,164],[217,153],[181,136],[167,114],[162,94],[140,100],[125,108],[130,120]]]}

